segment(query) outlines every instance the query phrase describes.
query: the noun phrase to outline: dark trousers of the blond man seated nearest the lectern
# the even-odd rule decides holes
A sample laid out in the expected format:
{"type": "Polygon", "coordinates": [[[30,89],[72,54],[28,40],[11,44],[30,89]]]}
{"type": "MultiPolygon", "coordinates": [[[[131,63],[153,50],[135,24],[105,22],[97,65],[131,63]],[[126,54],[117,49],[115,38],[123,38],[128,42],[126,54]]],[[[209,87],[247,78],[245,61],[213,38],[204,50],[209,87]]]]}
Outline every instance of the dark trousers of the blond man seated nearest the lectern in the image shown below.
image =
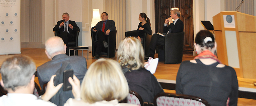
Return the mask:
{"type": "Polygon", "coordinates": [[[149,45],[149,53],[155,54],[156,46],[164,45],[164,37],[159,34],[153,34],[149,45]]]}

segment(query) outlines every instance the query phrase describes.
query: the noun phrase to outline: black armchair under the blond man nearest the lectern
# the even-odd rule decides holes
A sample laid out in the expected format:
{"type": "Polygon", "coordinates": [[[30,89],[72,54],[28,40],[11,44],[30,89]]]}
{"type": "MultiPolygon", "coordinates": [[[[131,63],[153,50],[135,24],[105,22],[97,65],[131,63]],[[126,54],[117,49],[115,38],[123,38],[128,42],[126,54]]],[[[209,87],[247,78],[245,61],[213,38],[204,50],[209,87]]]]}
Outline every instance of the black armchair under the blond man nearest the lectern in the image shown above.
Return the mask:
{"type": "Polygon", "coordinates": [[[164,36],[164,46],[159,46],[159,61],[164,64],[178,64],[182,62],[183,42],[185,32],[168,33],[164,36]]]}

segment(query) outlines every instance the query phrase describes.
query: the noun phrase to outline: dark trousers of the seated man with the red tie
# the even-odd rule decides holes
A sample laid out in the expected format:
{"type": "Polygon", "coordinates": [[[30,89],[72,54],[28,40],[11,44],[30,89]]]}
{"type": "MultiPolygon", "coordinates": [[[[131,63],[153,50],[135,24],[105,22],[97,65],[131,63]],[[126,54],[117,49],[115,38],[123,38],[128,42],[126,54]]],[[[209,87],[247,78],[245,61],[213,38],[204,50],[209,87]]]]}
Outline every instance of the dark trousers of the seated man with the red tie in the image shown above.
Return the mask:
{"type": "Polygon", "coordinates": [[[104,47],[103,41],[107,42],[107,38],[108,38],[108,35],[105,35],[105,33],[102,32],[101,30],[98,31],[98,33],[97,33],[98,41],[95,42],[95,46],[96,46],[95,54],[96,55],[100,55],[100,52],[101,52],[102,48],[104,47]]]}

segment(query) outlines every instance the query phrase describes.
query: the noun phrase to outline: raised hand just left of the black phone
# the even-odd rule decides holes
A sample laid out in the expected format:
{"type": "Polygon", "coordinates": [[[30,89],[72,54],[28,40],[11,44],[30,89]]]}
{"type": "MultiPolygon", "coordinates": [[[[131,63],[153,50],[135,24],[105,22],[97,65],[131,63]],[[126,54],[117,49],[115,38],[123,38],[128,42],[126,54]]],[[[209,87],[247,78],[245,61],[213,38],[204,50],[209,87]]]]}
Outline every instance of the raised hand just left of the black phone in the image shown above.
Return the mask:
{"type": "Polygon", "coordinates": [[[54,86],[53,79],[55,76],[56,75],[51,76],[50,81],[47,83],[47,88],[45,93],[42,95],[42,100],[49,101],[52,98],[52,96],[54,96],[63,85],[63,83],[60,83],[57,86],[54,86]]]}

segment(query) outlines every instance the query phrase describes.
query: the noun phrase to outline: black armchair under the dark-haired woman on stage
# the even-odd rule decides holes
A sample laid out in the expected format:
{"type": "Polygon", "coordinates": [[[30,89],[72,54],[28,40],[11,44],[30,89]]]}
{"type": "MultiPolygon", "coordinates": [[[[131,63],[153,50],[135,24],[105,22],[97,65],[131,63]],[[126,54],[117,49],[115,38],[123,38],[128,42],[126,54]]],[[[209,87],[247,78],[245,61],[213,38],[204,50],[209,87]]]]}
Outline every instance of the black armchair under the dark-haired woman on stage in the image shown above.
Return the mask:
{"type": "MultiPolygon", "coordinates": [[[[130,37],[130,36],[138,36],[137,30],[132,30],[132,31],[125,32],[125,37],[130,37]]],[[[142,47],[144,49],[145,54],[148,54],[148,52],[149,52],[149,44],[150,44],[150,41],[151,41],[151,37],[152,37],[152,35],[150,35],[146,32],[144,33],[142,47]]]]}

